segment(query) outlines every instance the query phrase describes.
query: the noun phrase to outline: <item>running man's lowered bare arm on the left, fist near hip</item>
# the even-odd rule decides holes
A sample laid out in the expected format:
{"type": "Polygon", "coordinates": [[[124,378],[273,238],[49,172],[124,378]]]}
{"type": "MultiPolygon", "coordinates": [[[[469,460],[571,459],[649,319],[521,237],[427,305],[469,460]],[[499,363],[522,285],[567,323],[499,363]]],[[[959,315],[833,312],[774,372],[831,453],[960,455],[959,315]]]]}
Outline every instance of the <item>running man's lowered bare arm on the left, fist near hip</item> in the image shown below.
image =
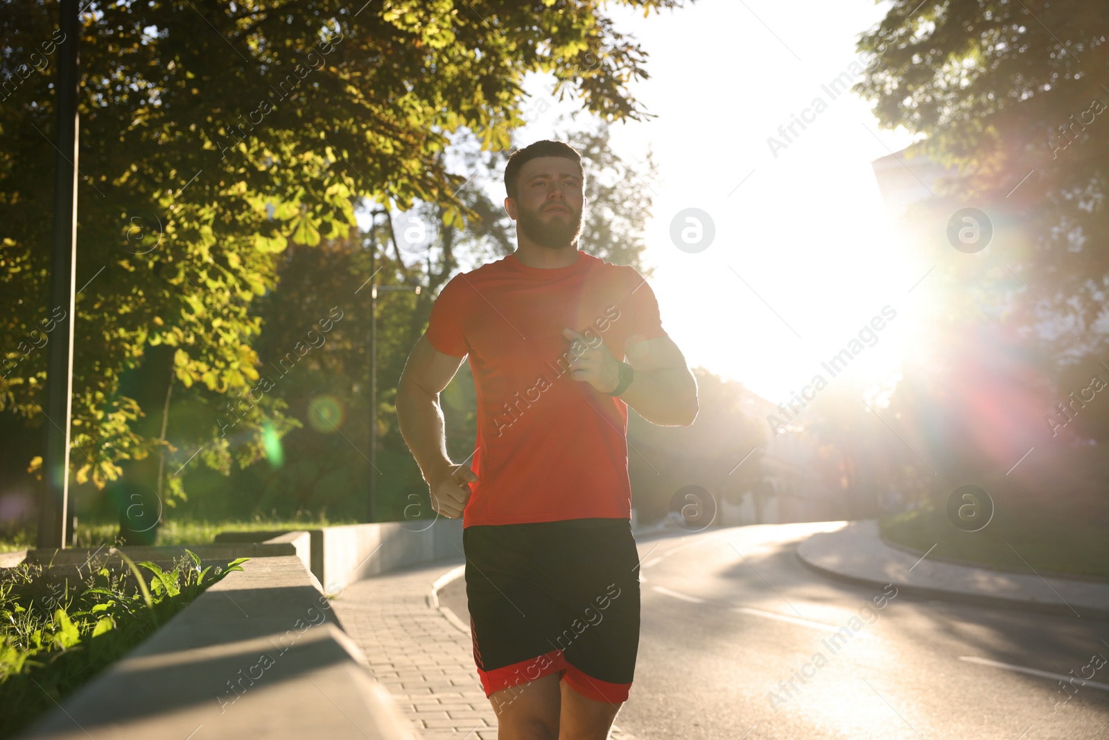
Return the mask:
{"type": "Polygon", "coordinates": [[[400,436],[419,465],[431,496],[431,507],[448,518],[457,518],[470,496],[469,483],[478,477],[465,465],[455,465],[447,455],[447,439],[439,393],[455,377],[462,357],[445,355],[420,336],[408,355],[397,384],[397,422],[400,436]]]}

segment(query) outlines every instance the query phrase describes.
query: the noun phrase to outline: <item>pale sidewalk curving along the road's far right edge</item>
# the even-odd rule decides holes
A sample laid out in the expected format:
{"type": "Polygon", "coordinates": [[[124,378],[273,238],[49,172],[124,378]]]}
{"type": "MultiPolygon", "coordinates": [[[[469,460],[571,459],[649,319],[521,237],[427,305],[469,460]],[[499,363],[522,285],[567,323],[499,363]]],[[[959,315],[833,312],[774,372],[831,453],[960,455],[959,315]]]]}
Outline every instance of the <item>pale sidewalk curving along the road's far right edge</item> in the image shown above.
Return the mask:
{"type": "Polygon", "coordinates": [[[857,584],[988,606],[1109,619],[1109,585],[940,562],[886,544],[874,519],[847,521],[797,546],[808,567],[857,584]]]}

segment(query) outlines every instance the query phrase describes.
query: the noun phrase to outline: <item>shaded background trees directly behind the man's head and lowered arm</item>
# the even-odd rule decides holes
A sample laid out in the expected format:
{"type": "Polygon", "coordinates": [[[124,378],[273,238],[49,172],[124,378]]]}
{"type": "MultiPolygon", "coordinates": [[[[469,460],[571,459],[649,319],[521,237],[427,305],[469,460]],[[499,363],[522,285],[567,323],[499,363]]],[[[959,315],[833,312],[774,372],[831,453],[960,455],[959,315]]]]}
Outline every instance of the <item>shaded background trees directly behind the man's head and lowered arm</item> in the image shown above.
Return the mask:
{"type": "MultiPolygon", "coordinates": [[[[650,209],[644,183],[653,170],[624,162],[609,146],[609,129],[569,130],[567,141],[579,148],[590,197],[582,229],[582,249],[617,264],[640,263],[644,249],[642,224],[650,209]],[[620,214],[619,217],[612,214],[620,214]]],[[[420,518],[433,515],[427,487],[400,437],[396,424],[396,384],[408,353],[427,326],[439,288],[459,270],[500,259],[515,247],[515,224],[500,200],[503,156],[470,152],[466,168],[472,172],[458,197],[479,217],[465,227],[439,226],[428,249],[406,244],[405,224],[423,219],[434,229],[441,219],[434,203],[418,202],[407,214],[381,207],[373,222],[346,239],[319,245],[292,245],[277,256],[277,287],[257,301],[263,331],[254,346],[262,361],[260,373],[272,381],[273,395],[286,405],[297,428],[281,439],[282,464],[258,463],[235,470],[227,478],[189,474],[184,481],[191,501],[180,514],[196,517],[244,517],[297,510],[316,515],[365,516],[367,479],[377,477],[375,516],[378,519],[420,518]],[[377,450],[369,466],[369,315],[370,282],[404,291],[380,291],[377,308],[377,450]],[[420,287],[420,293],[411,291],[420,287]],[[342,315],[327,332],[315,331],[322,317],[342,315]],[[301,359],[291,354],[297,343],[312,337],[316,345],[301,359]],[[294,363],[295,361],[295,363],[294,363]],[[322,409],[328,416],[322,416],[322,409]],[[213,508],[226,504],[223,508],[213,508]],[[201,510],[203,508],[203,511],[201,510]]],[[[466,459],[474,450],[476,394],[469,365],[464,364],[441,396],[447,420],[448,450],[466,459]]],[[[236,406],[242,406],[236,402],[236,406]]],[[[248,405],[248,404],[247,404],[248,405]]],[[[170,437],[183,418],[171,408],[170,437]]],[[[224,414],[221,418],[234,422],[224,414]]],[[[238,427],[228,428],[236,438],[238,427]]],[[[434,515],[433,515],[434,516],[434,515]]]]}

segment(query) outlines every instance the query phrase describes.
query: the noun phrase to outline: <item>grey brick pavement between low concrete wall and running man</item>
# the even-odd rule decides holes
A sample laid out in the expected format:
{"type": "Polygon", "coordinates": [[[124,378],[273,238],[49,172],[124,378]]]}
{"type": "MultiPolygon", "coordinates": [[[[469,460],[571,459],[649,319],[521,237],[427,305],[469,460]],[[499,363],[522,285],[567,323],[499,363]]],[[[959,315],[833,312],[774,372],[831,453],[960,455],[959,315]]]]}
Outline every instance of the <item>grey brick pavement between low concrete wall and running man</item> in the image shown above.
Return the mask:
{"type": "MultiPolygon", "coordinates": [[[[461,558],[347,586],[333,601],[370,672],[424,740],[496,740],[497,714],[474,666],[469,631],[433,608],[431,584],[461,558]]],[[[613,740],[635,740],[613,727],[613,740]]]]}

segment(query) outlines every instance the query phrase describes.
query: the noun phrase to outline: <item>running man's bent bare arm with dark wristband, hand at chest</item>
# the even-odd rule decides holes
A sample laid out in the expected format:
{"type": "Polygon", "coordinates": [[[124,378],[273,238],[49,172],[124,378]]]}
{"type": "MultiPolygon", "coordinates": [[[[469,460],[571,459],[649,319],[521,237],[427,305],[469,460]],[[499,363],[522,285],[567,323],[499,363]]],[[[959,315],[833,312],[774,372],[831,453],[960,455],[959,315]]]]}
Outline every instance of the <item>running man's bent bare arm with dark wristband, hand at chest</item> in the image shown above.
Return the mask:
{"type": "MultiPolygon", "coordinates": [[[[573,349],[578,356],[570,364],[570,376],[586,381],[601,393],[615,391],[620,373],[609,348],[603,343],[589,347],[586,337],[569,328],[562,335],[578,341],[573,349]]],[[[633,334],[624,344],[624,353],[635,373],[620,398],[651,424],[693,424],[699,410],[696,381],[673,339],[669,336],[643,339],[633,334]]]]}

